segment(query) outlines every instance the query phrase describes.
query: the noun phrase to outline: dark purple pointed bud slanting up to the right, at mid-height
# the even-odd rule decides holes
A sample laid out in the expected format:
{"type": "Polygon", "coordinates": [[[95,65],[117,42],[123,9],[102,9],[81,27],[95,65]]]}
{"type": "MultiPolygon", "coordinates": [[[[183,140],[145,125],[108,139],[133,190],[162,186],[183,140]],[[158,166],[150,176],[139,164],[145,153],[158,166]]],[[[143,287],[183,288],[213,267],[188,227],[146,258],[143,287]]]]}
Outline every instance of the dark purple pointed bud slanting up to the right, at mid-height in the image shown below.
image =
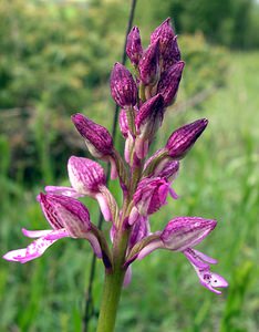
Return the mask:
{"type": "Polygon", "coordinates": [[[207,124],[208,120],[201,118],[175,131],[166,144],[168,155],[174,159],[183,158],[201,135],[207,124]]]}

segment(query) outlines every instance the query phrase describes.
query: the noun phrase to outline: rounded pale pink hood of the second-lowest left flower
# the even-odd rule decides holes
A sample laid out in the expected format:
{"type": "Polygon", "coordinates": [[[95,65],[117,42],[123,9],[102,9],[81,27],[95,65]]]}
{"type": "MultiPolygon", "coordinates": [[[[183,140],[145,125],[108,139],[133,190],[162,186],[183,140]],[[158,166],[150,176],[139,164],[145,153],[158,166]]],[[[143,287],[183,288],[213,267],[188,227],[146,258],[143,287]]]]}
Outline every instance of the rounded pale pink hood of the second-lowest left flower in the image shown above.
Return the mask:
{"type": "Polygon", "coordinates": [[[72,187],[80,194],[95,195],[106,184],[103,167],[91,159],[72,156],[68,170],[72,187]]]}

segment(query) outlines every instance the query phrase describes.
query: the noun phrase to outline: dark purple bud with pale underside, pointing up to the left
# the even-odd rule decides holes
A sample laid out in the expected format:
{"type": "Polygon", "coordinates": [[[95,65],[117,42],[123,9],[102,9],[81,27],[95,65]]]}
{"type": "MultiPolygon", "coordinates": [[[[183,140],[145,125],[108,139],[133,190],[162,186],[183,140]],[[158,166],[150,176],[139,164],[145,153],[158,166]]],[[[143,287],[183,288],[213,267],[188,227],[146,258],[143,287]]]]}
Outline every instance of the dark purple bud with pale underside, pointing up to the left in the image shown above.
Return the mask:
{"type": "Polygon", "coordinates": [[[72,115],[72,121],[94,157],[103,158],[112,155],[113,138],[105,127],[80,113],[72,115]]]}

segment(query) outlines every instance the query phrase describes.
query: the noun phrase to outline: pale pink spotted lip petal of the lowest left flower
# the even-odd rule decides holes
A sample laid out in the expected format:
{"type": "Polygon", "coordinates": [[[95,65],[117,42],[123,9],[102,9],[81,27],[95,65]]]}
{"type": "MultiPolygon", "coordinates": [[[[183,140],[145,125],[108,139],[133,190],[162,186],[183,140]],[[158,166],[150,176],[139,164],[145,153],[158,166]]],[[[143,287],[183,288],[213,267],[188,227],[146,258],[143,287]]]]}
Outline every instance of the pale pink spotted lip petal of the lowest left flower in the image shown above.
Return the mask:
{"type": "Polygon", "coordinates": [[[52,231],[52,235],[55,234],[55,238],[48,238],[50,235],[41,237],[35,241],[31,242],[27,248],[17,249],[7,252],[3,258],[10,261],[18,261],[21,263],[25,263],[32,259],[35,259],[44,253],[44,251],[53,245],[58,239],[68,237],[68,234],[63,230],[52,231]]]}

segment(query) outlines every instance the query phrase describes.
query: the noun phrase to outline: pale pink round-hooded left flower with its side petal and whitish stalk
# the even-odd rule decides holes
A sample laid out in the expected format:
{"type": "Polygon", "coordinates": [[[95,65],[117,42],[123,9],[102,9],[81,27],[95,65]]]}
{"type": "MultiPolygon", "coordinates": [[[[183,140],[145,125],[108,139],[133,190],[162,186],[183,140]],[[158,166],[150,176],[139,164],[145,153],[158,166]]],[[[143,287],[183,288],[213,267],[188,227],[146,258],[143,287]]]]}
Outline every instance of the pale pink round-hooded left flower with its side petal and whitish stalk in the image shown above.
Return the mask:
{"type": "Polygon", "coordinates": [[[68,163],[69,178],[72,187],[46,186],[45,191],[70,197],[90,196],[99,201],[106,221],[113,220],[113,211],[117,206],[106,188],[104,169],[97,163],[82,157],[72,156],[68,163]]]}

